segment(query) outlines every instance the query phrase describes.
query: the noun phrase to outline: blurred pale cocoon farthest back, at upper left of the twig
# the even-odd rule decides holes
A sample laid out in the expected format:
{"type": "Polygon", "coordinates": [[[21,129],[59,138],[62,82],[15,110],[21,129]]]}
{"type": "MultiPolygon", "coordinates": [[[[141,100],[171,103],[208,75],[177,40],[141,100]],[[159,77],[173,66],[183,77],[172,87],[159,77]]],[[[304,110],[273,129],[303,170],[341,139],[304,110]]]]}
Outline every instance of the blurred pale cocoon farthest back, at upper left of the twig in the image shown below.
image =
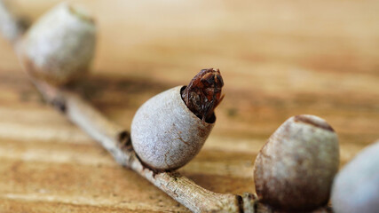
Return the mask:
{"type": "Polygon", "coordinates": [[[96,46],[96,26],[85,12],[66,3],[47,12],[18,47],[28,74],[53,85],[84,75],[96,46]]]}

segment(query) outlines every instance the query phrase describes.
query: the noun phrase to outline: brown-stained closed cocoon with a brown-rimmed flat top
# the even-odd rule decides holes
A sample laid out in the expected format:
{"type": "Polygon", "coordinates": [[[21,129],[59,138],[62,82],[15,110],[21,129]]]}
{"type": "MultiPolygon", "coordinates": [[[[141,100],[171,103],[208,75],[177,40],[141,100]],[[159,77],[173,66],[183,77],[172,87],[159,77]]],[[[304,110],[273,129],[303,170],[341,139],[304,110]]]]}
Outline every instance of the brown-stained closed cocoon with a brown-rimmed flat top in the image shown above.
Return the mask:
{"type": "Polygon", "coordinates": [[[317,209],[328,203],[338,165],[338,138],[328,122],[314,115],[293,116],[257,155],[257,195],[274,209],[317,209]]]}

